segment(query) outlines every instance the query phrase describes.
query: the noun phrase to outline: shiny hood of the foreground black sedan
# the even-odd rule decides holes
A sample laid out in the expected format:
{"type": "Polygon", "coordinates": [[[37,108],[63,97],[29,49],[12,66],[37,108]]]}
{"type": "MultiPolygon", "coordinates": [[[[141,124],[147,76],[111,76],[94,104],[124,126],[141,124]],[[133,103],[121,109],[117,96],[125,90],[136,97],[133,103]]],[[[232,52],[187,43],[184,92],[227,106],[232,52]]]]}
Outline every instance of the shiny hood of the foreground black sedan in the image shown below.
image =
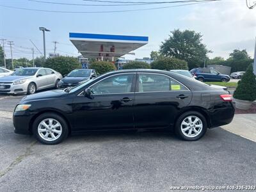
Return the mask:
{"type": "Polygon", "coordinates": [[[24,97],[21,102],[26,102],[29,100],[42,100],[42,99],[54,99],[54,98],[59,98],[62,95],[66,95],[67,93],[64,92],[63,90],[50,90],[47,92],[41,92],[41,93],[35,93],[33,95],[28,95],[24,97]]]}

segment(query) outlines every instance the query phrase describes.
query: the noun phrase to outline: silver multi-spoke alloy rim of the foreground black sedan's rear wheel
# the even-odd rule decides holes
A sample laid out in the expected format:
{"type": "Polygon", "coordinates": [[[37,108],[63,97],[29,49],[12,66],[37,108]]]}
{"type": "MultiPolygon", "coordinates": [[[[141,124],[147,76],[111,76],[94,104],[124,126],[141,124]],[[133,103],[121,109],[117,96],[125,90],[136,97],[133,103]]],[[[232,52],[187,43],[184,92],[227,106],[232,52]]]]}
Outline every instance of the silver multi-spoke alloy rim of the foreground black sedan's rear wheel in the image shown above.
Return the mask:
{"type": "Polygon", "coordinates": [[[182,121],[180,129],[184,136],[195,138],[198,136],[198,134],[200,134],[200,132],[202,132],[203,123],[202,120],[197,116],[187,116],[182,121]]]}

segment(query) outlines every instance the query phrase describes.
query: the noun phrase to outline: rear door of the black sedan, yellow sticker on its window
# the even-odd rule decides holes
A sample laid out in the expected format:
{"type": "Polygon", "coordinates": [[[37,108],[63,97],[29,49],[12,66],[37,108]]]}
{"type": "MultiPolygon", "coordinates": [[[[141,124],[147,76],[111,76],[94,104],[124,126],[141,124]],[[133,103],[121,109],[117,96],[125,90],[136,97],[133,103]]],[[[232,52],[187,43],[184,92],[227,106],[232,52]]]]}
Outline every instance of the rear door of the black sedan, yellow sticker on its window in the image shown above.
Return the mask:
{"type": "Polygon", "coordinates": [[[134,97],[134,126],[164,128],[173,124],[179,110],[188,106],[192,93],[163,74],[138,73],[134,97]]]}

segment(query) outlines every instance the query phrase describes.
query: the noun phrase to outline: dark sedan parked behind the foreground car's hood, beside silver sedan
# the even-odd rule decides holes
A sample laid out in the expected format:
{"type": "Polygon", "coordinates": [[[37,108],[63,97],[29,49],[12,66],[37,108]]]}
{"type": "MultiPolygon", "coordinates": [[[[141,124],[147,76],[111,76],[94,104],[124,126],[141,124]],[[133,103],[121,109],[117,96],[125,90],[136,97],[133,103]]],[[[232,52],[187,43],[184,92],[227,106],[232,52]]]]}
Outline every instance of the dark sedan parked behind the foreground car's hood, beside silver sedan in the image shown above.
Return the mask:
{"type": "Polygon", "coordinates": [[[94,69],[74,69],[58,83],[58,88],[77,86],[96,77],[94,69]]]}

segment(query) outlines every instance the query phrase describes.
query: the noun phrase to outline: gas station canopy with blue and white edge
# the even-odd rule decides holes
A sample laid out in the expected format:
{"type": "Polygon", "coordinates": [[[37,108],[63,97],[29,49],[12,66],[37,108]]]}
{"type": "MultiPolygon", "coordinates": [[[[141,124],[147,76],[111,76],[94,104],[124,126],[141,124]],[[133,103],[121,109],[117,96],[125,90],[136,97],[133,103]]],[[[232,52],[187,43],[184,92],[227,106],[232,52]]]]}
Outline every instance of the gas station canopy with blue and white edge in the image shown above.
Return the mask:
{"type": "Polygon", "coordinates": [[[69,33],[69,38],[84,57],[112,61],[148,43],[148,36],[69,33]]]}

